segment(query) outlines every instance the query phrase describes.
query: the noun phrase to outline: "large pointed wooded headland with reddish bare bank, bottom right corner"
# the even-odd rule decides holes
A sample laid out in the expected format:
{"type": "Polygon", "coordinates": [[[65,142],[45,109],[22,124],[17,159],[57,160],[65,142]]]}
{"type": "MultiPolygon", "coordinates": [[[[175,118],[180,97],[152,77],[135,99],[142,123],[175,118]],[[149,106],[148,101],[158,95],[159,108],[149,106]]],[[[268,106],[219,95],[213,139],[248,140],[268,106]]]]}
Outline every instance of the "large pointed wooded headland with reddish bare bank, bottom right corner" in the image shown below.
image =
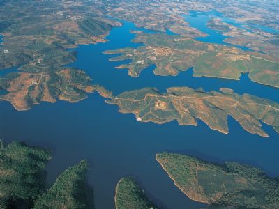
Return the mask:
{"type": "Polygon", "coordinates": [[[211,206],[278,208],[279,182],[261,170],[236,162],[223,166],[195,157],[158,153],[156,160],[190,199],[211,206]]]}

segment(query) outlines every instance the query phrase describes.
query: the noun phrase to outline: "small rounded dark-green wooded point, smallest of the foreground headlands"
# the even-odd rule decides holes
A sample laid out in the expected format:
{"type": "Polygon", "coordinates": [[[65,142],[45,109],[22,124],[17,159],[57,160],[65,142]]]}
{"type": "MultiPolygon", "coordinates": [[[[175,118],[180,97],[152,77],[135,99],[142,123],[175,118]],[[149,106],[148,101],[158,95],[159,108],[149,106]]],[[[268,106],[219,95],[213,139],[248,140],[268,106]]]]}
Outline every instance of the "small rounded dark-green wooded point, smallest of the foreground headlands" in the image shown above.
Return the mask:
{"type": "Polygon", "coordinates": [[[135,178],[121,178],[116,186],[116,209],[151,209],[156,206],[148,199],[135,178]]]}

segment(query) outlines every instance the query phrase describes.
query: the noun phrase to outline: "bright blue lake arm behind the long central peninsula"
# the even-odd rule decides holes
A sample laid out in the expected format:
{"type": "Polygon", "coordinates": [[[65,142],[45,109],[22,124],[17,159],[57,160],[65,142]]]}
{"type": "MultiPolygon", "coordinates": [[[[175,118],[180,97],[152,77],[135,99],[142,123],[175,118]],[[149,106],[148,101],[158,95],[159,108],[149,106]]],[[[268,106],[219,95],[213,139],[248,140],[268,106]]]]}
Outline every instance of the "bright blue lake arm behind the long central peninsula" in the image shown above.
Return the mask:
{"type": "MultiPolygon", "coordinates": [[[[128,61],[108,61],[112,56],[103,54],[106,50],[119,49],[123,47],[139,47],[142,44],[133,43],[131,40],[135,38],[135,34],[130,33],[131,30],[143,30],[135,27],[131,22],[123,22],[123,26],[112,29],[107,39],[110,40],[105,44],[97,45],[80,45],[77,50],[77,61],[70,66],[85,70],[93,79],[94,84],[100,84],[114,95],[118,95],[123,91],[130,91],[145,87],[154,87],[165,92],[167,88],[174,86],[188,86],[190,88],[203,88],[205,91],[218,91],[220,88],[232,88],[236,93],[249,93],[257,95],[261,98],[267,98],[279,102],[278,88],[264,86],[256,82],[251,82],[248,74],[241,75],[240,81],[232,79],[219,79],[211,77],[193,77],[193,68],[184,72],[180,72],[176,76],[157,76],[153,74],[152,65],[142,70],[140,77],[130,77],[128,70],[115,69],[128,61]]],[[[150,31],[147,31],[150,33],[150,31]]]]}

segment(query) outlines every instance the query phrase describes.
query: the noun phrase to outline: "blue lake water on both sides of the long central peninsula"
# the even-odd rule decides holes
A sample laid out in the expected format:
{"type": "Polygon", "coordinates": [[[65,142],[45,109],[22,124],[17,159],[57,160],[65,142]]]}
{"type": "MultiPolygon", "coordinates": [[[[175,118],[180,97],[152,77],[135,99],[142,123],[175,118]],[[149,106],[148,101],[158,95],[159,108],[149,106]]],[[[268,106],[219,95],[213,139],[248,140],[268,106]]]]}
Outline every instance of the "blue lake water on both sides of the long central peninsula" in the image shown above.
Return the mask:
{"type": "MultiPolygon", "coordinates": [[[[127,90],[156,87],[160,91],[172,86],[202,87],[206,91],[220,87],[237,93],[250,93],[279,102],[278,89],[250,82],[248,75],[240,81],[193,77],[192,70],[176,77],[153,75],[153,66],[140,77],[128,76],[127,70],[114,69],[127,61],[109,62],[111,55],[101,52],[120,47],[137,47],[130,42],[134,24],[124,22],[112,29],[110,42],[82,45],[77,48],[77,62],[72,65],[85,70],[93,83],[105,86],[114,95],[127,90]]],[[[1,71],[0,71],[1,72],[1,71]]],[[[47,165],[47,182],[51,185],[66,168],[82,159],[89,160],[89,183],[94,189],[96,208],[114,207],[114,189],[124,176],[136,176],[149,196],[163,208],[199,208],[203,204],[187,198],[174,186],[167,173],[155,160],[163,151],[185,153],[213,162],[244,162],[279,175],[279,134],[264,125],[269,138],[244,131],[229,118],[229,134],[210,130],[202,121],[198,126],[180,126],[175,121],[157,125],[140,123],[133,114],[121,114],[118,107],[105,104],[97,93],[70,104],[43,102],[30,111],[16,111],[8,102],[0,102],[0,138],[22,140],[34,146],[50,148],[53,158],[47,165]]]]}

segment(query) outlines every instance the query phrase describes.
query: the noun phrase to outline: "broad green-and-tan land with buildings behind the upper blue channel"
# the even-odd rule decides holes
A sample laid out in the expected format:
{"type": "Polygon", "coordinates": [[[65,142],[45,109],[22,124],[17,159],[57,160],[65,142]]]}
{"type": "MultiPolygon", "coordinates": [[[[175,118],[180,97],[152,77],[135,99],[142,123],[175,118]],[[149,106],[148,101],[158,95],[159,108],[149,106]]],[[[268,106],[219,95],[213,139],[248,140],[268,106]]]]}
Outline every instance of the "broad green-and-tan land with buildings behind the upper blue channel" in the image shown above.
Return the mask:
{"type": "Polygon", "coordinates": [[[163,33],[137,33],[134,42],[142,42],[145,46],[104,52],[121,54],[110,61],[133,59],[116,67],[128,68],[133,77],[155,64],[156,75],[177,75],[190,67],[195,76],[226,79],[239,79],[241,72],[248,72],[254,82],[279,87],[279,63],[275,56],[163,33]]]}

